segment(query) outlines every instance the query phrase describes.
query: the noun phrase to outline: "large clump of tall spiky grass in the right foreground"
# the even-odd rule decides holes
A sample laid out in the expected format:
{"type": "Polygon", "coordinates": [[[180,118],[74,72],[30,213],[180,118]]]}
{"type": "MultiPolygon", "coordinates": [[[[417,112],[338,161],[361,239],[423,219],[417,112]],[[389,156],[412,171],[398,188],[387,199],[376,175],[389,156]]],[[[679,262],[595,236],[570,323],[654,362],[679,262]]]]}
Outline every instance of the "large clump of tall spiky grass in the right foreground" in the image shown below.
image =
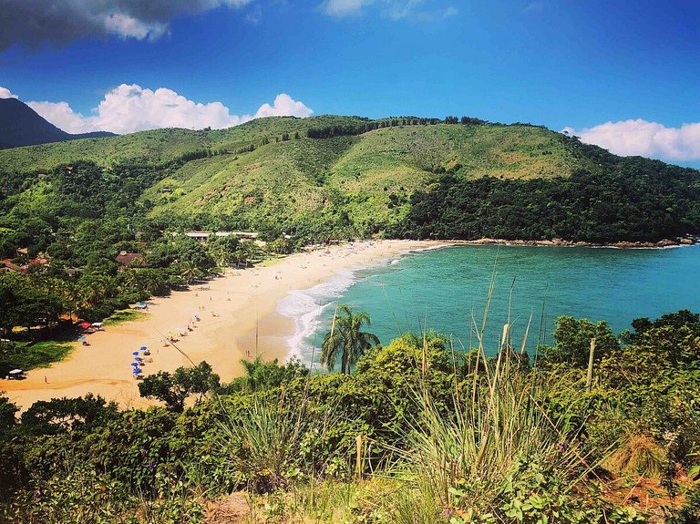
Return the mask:
{"type": "Polygon", "coordinates": [[[567,491],[591,471],[568,437],[570,414],[548,413],[554,386],[518,365],[508,331],[507,324],[495,359],[479,347],[451,408],[427,390],[414,392],[418,416],[407,420],[407,447],[396,449],[390,471],[409,487],[397,498],[397,521],[447,521],[451,511],[505,515],[519,489],[559,492],[565,484],[567,491]]]}

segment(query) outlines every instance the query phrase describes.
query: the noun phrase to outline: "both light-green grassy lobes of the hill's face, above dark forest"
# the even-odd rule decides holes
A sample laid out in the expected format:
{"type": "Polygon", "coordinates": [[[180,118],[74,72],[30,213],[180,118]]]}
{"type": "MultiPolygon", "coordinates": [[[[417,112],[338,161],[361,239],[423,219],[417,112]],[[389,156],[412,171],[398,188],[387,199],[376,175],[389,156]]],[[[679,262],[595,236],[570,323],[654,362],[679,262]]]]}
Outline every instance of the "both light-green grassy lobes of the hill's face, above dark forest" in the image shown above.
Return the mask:
{"type": "MultiPolygon", "coordinates": [[[[251,136],[244,131],[228,130],[228,139],[251,136]]],[[[261,125],[255,131],[256,138],[269,132],[261,125]]],[[[556,133],[543,128],[380,128],[359,137],[291,139],[239,157],[193,161],[144,198],[155,204],[152,216],[206,211],[235,214],[251,223],[317,213],[330,201],[341,204],[364,229],[371,221],[403,217],[410,195],[434,178],[433,171],[530,179],[568,176],[586,164],[563,147],[556,133]]]]}

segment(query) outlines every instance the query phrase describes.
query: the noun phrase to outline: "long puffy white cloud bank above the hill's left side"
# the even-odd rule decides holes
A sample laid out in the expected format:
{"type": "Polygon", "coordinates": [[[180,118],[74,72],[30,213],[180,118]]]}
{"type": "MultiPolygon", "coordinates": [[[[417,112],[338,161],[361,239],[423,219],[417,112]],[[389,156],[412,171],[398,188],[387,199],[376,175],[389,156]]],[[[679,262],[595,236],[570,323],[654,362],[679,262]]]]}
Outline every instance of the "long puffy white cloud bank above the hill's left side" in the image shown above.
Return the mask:
{"type": "Polygon", "coordinates": [[[105,95],[93,115],[83,117],[67,102],[28,102],[39,115],[69,133],[111,131],[132,133],[154,128],[231,128],[253,118],[292,116],[308,117],[314,111],[286,93],[278,95],[273,105],[263,104],[251,115],[232,115],[221,102],[201,104],[172,89],[155,90],[137,84],[121,84],[105,95]]]}

